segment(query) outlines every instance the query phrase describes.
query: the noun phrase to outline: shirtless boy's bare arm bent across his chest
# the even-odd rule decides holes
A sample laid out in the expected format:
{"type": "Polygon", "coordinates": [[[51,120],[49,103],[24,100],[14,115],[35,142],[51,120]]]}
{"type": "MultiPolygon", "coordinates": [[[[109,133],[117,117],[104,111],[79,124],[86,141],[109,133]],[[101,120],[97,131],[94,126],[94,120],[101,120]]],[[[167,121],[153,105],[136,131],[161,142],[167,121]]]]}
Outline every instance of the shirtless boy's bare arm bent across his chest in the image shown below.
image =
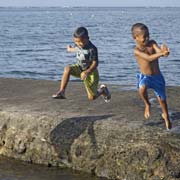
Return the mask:
{"type": "Polygon", "coordinates": [[[137,57],[139,57],[141,59],[144,59],[146,61],[155,61],[159,57],[164,56],[166,54],[166,51],[164,51],[164,52],[160,51],[160,52],[157,52],[155,54],[149,55],[149,54],[146,54],[144,52],[139,51],[138,49],[135,49],[134,54],[135,54],[135,56],[137,56],[137,57]]]}

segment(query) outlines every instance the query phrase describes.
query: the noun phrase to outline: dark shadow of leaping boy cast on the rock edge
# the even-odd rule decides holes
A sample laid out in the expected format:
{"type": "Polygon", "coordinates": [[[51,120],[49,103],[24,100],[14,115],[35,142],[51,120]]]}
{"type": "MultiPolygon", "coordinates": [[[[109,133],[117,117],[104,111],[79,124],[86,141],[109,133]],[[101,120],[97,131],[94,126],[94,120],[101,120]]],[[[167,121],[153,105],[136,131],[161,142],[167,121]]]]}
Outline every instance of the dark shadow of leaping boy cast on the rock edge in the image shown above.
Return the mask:
{"type": "Polygon", "coordinates": [[[108,120],[113,115],[99,115],[99,116],[82,116],[72,117],[63,120],[50,133],[52,145],[60,159],[71,162],[71,145],[84,131],[87,130],[91,143],[96,149],[96,137],[94,133],[94,122],[100,120],[108,120]]]}

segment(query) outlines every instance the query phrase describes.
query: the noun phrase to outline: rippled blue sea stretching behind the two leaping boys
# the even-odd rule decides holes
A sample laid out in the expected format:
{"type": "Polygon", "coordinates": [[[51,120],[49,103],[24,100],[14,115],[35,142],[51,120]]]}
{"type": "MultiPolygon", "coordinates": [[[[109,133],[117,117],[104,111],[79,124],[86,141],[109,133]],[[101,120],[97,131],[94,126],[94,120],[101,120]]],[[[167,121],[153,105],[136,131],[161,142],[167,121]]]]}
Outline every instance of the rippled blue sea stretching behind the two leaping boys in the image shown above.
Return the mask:
{"type": "Polygon", "coordinates": [[[143,22],[171,49],[160,60],[167,85],[180,85],[179,19],[180,8],[0,8],[0,77],[59,80],[75,62],[66,45],[83,25],[99,49],[101,82],[135,85],[130,29],[143,22]]]}

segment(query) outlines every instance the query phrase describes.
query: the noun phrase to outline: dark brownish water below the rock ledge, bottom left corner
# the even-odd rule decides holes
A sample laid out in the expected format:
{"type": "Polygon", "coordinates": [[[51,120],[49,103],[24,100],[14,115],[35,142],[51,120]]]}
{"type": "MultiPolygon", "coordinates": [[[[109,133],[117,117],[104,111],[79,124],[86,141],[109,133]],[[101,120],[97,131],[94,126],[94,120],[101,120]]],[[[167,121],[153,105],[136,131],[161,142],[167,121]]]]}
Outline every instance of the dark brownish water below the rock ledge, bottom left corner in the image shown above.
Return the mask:
{"type": "Polygon", "coordinates": [[[31,165],[0,158],[0,180],[106,180],[67,169],[31,165]]]}

